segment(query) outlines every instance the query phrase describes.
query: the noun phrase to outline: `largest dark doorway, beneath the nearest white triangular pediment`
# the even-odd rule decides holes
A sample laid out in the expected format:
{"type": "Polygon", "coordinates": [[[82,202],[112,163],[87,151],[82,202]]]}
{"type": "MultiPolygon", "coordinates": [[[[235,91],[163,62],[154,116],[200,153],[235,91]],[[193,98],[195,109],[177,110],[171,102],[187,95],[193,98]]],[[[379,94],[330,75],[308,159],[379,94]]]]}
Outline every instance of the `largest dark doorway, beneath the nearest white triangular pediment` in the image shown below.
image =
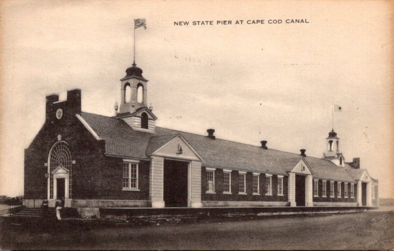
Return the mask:
{"type": "Polygon", "coordinates": [[[165,207],[188,206],[188,163],[164,160],[165,207]]]}

